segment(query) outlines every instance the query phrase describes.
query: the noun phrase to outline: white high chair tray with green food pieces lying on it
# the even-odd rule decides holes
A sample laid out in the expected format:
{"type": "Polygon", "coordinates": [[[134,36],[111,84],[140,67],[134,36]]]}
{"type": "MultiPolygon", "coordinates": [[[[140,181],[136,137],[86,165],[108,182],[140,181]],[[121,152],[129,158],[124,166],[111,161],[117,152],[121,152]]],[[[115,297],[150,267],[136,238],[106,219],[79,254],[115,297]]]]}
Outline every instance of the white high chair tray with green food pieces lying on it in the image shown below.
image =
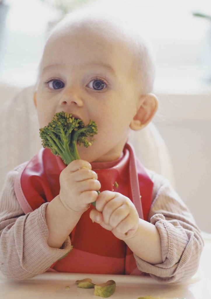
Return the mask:
{"type": "MultiPolygon", "coordinates": [[[[71,274],[46,272],[28,280],[16,281],[0,275],[1,299],[100,299],[94,296],[94,289],[81,289],[75,284],[77,279],[91,278],[93,283],[104,283],[113,279],[116,290],[111,299],[137,299],[140,296],[162,296],[166,298],[203,299],[209,290],[201,274],[181,285],[164,285],[147,276],[71,274]],[[65,287],[69,286],[69,289],[65,287]]],[[[207,283],[208,284],[208,283],[207,283]]],[[[209,297],[207,297],[209,298],[209,297]]]]}

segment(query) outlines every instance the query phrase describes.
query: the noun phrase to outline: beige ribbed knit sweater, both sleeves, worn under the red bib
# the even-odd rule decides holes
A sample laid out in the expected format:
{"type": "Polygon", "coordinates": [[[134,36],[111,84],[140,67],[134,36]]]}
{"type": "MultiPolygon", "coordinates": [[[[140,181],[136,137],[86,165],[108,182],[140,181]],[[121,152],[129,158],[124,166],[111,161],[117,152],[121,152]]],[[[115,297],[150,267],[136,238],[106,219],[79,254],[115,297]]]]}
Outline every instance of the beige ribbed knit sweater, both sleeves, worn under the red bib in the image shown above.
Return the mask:
{"type": "MultiPolygon", "coordinates": [[[[47,244],[48,227],[41,205],[24,214],[14,192],[14,180],[27,162],[7,173],[0,195],[0,271],[24,280],[45,272],[71,248],[68,236],[63,248],[47,244]]],[[[160,233],[163,263],[152,265],[134,254],[137,267],[162,283],[180,283],[198,269],[204,241],[199,228],[169,181],[146,169],[154,183],[149,221],[160,233]]]]}

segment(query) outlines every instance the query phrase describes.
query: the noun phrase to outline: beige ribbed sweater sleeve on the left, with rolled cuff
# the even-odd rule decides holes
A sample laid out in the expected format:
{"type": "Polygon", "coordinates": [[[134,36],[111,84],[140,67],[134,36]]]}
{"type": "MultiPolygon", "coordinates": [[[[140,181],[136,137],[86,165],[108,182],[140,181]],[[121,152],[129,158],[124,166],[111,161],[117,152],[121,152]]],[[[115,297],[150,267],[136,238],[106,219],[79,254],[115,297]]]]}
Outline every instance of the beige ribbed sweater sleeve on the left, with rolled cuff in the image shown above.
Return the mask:
{"type": "Polygon", "coordinates": [[[26,215],[20,207],[14,181],[24,165],[7,174],[0,196],[0,271],[15,280],[28,279],[47,271],[72,248],[69,236],[62,249],[48,246],[45,220],[48,202],[26,215]]]}

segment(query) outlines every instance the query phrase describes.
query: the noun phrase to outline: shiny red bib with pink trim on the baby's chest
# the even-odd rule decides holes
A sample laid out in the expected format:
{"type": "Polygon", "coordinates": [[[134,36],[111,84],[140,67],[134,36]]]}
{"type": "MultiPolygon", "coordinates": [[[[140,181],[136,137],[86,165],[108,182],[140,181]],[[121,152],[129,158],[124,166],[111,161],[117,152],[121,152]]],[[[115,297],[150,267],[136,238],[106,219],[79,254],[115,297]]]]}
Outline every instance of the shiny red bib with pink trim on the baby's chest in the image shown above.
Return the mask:
{"type": "MultiPolygon", "coordinates": [[[[110,190],[127,196],[135,205],[139,217],[147,220],[152,203],[153,182],[147,175],[134,149],[128,142],[122,156],[111,162],[92,162],[101,184],[100,191],[110,190]],[[117,182],[118,187],[115,187],[117,182]],[[141,199],[140,199],[141,194],[141,199]]],[[[59,175],[66,167],[50,149],[40,149],[18,174],[15,193],[25,214],[50,202],[59,194],[59,175]]],[[[91,205],[90,209],[94,207],[91,205]]],[[[95,274],[141,275],[132,251],[123,240],[116,238],[89,218],[85,211],[70,234],[73,249],[48,271],[95,274]]]]}

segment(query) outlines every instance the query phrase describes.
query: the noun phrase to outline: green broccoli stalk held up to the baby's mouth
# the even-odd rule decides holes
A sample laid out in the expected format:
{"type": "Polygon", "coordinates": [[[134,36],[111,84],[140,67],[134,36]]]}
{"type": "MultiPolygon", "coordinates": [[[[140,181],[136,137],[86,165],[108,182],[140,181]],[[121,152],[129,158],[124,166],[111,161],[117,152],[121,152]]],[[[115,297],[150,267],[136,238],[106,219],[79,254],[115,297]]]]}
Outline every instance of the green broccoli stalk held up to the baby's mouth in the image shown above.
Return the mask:
{"type": "MultiPolygon", "coordinates": [[[[51,149],[54,155],[60,156],[66,165],[80,159],[77,143],[79,146],[83,144],[89,147],[91,142],[87,140],[87,137],[97,134],[97,125],[93,120],[85,126],[81,119],[71,116],[71,113],[58,112],[48,126],[39,129],[42,146],[51,149]]],[[[100,191],[97,193],[99,194],[100,191]]],[[[92,204],[95,206],[95,202],[92,204]]]]}

